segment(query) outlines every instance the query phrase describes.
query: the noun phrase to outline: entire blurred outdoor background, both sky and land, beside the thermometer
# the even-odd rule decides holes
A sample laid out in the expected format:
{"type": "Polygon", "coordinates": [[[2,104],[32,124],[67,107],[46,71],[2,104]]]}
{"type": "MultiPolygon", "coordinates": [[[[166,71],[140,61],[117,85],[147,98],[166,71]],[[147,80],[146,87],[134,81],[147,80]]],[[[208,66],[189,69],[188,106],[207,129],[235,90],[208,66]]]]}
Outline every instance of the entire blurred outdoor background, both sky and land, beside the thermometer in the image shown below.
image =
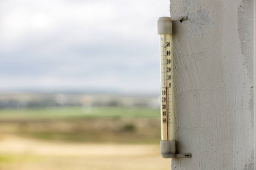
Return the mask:
{"type": "Polygon", "coordinates": [[[0,170],[170,167],[156,31],[169,5],[0,1],[0,170]]]}

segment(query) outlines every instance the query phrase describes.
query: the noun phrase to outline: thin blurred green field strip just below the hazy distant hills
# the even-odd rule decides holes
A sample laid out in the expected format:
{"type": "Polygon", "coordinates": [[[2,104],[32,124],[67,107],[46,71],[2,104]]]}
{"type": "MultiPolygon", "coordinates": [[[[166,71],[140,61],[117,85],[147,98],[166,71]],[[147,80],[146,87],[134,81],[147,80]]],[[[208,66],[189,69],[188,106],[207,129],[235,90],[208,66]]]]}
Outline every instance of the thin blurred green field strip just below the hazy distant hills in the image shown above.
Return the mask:
{"type": "Polygon", "coordinates": [[[57,107],[0,109],[0,120],[6,118],[88,118],[88,117],[146,117],[158,118],[160,110],[152,108],[126,107],[57,107]]]}

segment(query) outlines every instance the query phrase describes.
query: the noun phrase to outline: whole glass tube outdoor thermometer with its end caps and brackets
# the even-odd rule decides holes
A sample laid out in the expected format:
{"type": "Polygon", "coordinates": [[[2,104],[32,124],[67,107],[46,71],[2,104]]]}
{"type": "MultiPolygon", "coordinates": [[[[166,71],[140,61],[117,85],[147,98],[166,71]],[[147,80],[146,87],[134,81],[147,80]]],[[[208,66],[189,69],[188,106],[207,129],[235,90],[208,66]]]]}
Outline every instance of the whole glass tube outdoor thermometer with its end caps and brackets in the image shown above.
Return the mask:
{"type": "Polygon", "coordinates": [[[158,34],[160,35],[160,70],[161,70],[161,155],[163,158],[189,158],[191,154],[176,154],[174,139],[174,105],[172,77],[172,20],[187,19],[186,16],[175,18],[160,17],[158,34]]]}

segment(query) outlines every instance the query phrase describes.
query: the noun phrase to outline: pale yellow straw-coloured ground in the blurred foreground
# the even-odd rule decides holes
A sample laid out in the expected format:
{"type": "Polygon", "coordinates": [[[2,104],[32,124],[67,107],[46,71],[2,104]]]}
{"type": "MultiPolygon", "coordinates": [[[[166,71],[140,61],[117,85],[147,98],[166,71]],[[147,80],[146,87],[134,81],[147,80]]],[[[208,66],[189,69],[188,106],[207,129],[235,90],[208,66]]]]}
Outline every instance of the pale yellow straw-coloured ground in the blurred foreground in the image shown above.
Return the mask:
{"type": "Polygon", "coordinates": [[[1,170],[169,169],[159,145],[63,143],[2,135],[1,170]]]}

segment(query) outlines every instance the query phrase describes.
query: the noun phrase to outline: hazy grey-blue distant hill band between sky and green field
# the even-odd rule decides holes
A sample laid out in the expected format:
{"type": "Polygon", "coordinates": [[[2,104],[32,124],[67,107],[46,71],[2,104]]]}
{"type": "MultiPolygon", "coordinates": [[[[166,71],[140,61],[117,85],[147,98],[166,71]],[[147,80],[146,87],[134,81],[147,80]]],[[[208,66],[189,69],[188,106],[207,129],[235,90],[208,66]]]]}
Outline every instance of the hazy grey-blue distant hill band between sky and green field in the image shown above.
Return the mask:
{"type": "Polygon", "coordinates": [[[17,92],[0,94],[0,108],[67,107],[67,106],[159,107],[159,96],[83,94],[78,92],[17,92]]]}

